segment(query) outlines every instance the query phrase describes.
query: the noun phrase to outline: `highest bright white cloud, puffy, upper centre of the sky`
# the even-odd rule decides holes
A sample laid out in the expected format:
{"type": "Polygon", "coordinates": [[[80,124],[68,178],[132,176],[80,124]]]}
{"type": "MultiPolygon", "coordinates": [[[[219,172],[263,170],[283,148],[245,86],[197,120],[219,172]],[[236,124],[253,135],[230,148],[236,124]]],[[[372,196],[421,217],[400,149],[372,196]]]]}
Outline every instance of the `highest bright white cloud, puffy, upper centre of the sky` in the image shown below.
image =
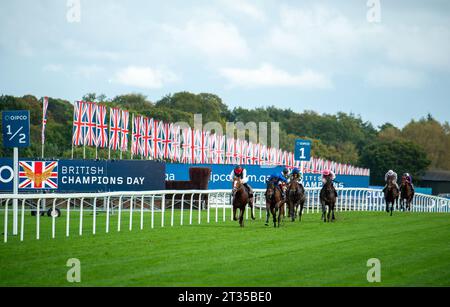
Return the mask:
{"type": "Polygon", "coordinates": [[[231,23],[190,20],[181,27],[165,25],[163,28],[183,51],[192,48],[195,53],[210,58],[245,58],[249,54],[245,39],[231,23]]]}

